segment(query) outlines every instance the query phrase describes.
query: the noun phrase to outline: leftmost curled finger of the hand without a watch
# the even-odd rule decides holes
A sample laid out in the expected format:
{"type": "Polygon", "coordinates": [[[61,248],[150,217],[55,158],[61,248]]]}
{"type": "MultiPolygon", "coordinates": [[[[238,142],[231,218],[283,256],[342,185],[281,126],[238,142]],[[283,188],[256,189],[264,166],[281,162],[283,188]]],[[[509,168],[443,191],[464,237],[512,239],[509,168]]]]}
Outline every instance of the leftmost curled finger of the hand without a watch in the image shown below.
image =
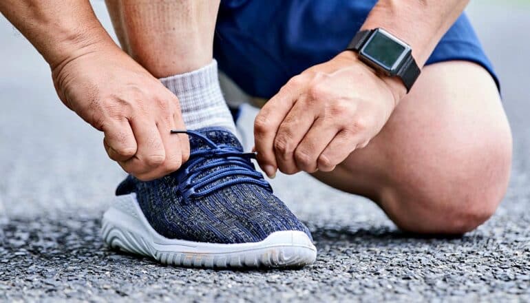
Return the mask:
{"type": "Polygon", "coordinates": [[[103,126],[103,133],[103,146],[112,160],[126,161],[136,154],[136,138],[127,119],[109,121],[103,126]]]}

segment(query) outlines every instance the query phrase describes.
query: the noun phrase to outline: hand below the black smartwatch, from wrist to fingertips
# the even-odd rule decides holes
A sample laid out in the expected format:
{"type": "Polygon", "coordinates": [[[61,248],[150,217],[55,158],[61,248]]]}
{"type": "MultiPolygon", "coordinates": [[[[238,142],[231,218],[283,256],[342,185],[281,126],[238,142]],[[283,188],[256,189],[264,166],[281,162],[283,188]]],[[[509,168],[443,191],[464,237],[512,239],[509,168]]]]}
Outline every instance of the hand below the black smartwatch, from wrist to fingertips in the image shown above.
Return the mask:
{"type": "Polygon", "coordinates": [[[342,52],[288,81],[255,119],[255,150],[270,177],[276,169],[332,171],[363,148],[406,93],[399,80],[377,75],[342,52]]]}

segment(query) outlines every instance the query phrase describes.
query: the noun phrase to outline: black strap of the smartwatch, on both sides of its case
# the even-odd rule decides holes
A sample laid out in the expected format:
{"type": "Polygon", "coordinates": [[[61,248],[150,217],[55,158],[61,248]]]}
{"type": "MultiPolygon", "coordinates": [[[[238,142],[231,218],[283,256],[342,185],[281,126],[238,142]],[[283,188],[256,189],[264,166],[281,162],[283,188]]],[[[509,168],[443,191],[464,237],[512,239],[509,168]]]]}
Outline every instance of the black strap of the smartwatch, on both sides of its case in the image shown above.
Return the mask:
{"type": "MultiPolygon", "coordinates": [[[[370,38],[372,32],[374,32],[374,30],[361,30],[357,32],[347,49],[359,52],[361,48],[363,48],[364,43],[370,38]]],[[[410,56],[407,56],[405,61],[403,61],[401,67],[399,67],[399,70],[396,72],[396,76],[399,76],[401,81],[403,81],[403,84],[405,84],[405,87],[407,87],[407,92],[409,92],[420,73],[421,70],[411,54],[410,56]]]]}

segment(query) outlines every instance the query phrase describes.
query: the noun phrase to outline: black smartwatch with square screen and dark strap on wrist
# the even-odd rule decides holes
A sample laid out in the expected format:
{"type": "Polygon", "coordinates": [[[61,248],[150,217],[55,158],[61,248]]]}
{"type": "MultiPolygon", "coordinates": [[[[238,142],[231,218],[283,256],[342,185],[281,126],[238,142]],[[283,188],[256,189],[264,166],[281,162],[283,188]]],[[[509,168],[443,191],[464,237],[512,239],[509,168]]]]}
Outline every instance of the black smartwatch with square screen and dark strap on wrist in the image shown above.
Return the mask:
{"type": "Polygon", "coordinates": [[[410,45],[382,28],[357,32],[348,50],[358,52],[359,59],[375,70],[399,77],[407,92],[421,72],[412,57],[410,45]]]}

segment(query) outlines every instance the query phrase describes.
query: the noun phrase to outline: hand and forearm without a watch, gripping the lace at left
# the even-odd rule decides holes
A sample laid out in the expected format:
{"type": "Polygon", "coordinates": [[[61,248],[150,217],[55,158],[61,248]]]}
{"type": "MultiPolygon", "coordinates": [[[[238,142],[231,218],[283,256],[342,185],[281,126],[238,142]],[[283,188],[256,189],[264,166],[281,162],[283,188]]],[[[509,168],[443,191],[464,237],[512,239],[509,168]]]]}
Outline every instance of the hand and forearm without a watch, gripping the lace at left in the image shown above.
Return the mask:
{"type": "Polygon", "coordinates": [[[140,180],[189,157],[178,99],[112,41],[88,0],[2,0],[0,12],[43,55],[61,101],[105,133],[107,154],[140,180]]]}

